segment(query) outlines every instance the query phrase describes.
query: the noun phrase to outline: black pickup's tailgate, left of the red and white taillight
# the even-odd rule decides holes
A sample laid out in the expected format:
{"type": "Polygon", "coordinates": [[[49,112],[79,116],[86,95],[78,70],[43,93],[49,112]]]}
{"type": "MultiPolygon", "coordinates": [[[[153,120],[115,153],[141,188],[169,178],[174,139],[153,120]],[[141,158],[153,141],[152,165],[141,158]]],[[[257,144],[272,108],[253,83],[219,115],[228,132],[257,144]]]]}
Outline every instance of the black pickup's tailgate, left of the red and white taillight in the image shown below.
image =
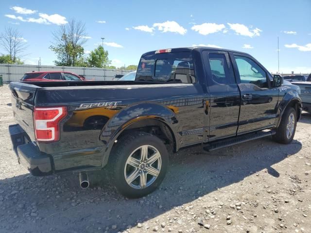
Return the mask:
{"type": "Polygon", "coordinates": [[[10,83],[13,116],[32,141],[35,141],[33,110],[37,88],[26,83],[10,83]]]}

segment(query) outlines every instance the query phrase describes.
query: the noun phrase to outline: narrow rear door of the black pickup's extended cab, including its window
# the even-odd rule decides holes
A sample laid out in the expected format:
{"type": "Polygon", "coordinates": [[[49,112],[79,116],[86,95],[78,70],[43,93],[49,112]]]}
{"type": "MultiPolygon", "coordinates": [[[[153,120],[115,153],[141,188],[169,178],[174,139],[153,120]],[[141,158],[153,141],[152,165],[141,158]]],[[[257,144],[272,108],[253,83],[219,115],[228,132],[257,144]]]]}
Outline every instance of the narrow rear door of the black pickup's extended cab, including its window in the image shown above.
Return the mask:
{"type": "Polygon", "coordinates": [[[228,52],[205,50],[203,60],[209,94],[209,141],[235,136],[238,129],[240,91],[228,52]]]}

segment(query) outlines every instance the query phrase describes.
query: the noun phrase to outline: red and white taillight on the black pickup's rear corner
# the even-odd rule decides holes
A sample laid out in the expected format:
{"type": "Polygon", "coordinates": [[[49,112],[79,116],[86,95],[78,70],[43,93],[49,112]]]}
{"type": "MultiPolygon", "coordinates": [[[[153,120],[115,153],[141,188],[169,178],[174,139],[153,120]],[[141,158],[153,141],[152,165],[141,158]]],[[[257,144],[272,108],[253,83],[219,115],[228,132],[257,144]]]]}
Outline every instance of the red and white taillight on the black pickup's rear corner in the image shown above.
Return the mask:
{"type": "Polygon", "coordinates": [[[35,139],[38,142],[58,141],[59,123],[66,115],[66,107],[35,108],[35,139]]]}

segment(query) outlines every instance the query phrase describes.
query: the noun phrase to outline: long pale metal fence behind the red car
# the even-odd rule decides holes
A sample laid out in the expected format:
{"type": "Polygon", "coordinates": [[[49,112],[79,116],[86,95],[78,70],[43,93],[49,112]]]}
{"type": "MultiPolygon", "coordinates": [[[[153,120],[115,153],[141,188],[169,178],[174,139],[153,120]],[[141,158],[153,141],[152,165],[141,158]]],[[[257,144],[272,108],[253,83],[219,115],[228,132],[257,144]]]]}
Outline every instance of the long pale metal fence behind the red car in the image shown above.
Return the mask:
{"type": "Polygon", "coordinates": [[[82,75],[87,80],[117,80],[114,78],[116,74],[126,74],[132,70],[0,64],[0,75],[5,83],[19,81],[25,73],[32,71],[68,71],[82,75]]]}

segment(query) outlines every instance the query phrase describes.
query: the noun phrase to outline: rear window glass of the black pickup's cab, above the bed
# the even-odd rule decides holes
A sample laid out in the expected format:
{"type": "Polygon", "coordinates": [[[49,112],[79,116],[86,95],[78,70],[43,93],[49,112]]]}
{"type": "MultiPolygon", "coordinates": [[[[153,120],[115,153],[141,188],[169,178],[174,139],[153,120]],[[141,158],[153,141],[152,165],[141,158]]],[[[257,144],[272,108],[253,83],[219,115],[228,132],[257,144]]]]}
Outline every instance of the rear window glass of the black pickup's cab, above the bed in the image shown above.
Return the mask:
{"type": "Polygon", "coordinates": [[[168,52],[141,57],[136,81],[196,83],[190,52],[168,52]]]}

